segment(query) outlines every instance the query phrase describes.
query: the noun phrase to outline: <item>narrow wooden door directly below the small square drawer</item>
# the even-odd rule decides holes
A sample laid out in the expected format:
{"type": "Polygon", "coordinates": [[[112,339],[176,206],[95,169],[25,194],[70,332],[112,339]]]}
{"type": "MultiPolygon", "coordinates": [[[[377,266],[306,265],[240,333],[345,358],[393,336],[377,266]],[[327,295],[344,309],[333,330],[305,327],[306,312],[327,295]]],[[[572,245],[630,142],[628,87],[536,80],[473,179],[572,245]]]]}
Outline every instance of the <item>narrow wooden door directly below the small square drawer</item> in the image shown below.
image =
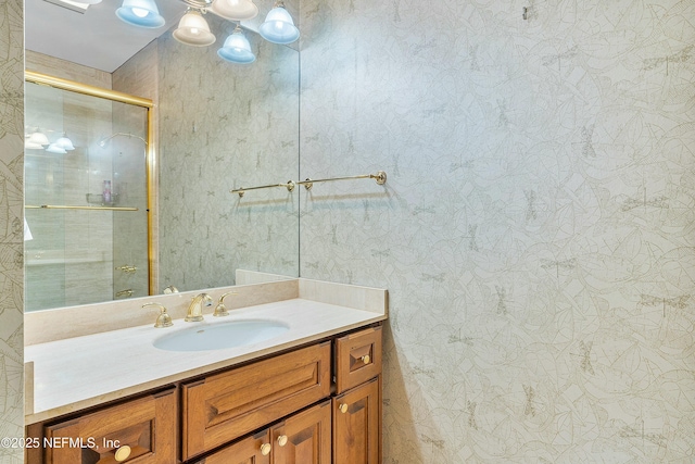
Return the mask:
{"type": "Polygon", "coordinates": [[[333,398],[333,464],[381,461],[380,377],[333,398]]]}

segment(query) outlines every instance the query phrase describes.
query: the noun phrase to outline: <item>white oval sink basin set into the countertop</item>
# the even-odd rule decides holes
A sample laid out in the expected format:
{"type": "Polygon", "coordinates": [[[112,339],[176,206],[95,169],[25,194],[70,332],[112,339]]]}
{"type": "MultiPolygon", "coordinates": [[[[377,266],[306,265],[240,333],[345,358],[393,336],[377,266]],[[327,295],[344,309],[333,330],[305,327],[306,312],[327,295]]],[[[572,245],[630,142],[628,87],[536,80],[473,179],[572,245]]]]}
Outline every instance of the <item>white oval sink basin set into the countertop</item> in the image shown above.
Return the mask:
{"type": "Polygon", "coordinates": [[[286,333],[290,327],[276,321],[231,321],[197,324],[154,340],[154,348],[167,351],[205,351],[257,343],[286,333]]]}

